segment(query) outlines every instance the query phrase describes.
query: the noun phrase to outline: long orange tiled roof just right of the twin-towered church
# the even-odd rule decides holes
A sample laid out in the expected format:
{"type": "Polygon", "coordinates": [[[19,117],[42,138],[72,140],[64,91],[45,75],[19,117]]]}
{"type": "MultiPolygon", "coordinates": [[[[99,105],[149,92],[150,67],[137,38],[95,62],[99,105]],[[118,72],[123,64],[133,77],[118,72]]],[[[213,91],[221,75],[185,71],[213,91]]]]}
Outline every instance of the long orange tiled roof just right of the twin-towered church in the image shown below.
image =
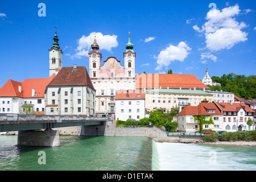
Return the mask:
{"type": "Polygon", "coordinates": [[[210,89],[203,84],[195,75],[183,74],[137,74],[136,75],[136,88],[167,88],[170,89],[210,89]]]}

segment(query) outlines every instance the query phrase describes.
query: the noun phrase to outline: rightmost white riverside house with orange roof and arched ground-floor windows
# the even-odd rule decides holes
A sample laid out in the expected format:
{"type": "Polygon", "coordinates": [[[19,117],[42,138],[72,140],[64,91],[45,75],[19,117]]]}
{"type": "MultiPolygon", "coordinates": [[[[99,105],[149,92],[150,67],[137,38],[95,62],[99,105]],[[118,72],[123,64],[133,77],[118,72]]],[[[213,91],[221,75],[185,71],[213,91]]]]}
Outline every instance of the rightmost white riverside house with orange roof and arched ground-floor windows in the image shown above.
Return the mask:
{"type": "Polygon", "coordinates": [[[247,125],[248,119],[253,120],[254,110],[243,103],[218,103],[214,104],[220,109],[221,113],[224,114],[223,126],[225,131],[243,131],[252,130],[247,125]]]}

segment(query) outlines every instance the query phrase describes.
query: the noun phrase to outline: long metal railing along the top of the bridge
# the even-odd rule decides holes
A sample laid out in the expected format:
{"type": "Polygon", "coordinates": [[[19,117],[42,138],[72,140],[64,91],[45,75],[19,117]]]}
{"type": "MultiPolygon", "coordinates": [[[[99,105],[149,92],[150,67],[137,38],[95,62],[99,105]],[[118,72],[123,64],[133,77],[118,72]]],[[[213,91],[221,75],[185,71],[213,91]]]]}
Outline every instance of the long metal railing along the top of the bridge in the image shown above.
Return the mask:
{"type": "Polygon", "coordinates": [[[93,120],[93,121],[98,121],[98,120],[109,120],[109,118],[98,118],[98,117],[86,117],[86,116],[81,116],[81,115],[39,115],[39,114],[0,114],[0,121],[27,121],[27,120],[57,120],[57,121],[62,121],[62,120],[93,120]]]}

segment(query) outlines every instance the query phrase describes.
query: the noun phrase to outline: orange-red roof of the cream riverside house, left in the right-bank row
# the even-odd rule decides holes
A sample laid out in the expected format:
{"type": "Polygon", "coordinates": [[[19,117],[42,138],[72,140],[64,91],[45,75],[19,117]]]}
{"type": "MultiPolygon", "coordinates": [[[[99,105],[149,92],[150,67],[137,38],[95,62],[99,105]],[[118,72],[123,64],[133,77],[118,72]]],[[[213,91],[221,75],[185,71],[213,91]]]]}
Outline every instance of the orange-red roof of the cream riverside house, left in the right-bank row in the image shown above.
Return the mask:
{"type": "Polygon", "coordinates": [[[180,111],[180,115],[223,115],[217,106],[212,103],[201,102],[198,106],[185,106],[183,110],[180,111]],[[215,110],[215,113],[208,113],[208,109],[215,110]]]}

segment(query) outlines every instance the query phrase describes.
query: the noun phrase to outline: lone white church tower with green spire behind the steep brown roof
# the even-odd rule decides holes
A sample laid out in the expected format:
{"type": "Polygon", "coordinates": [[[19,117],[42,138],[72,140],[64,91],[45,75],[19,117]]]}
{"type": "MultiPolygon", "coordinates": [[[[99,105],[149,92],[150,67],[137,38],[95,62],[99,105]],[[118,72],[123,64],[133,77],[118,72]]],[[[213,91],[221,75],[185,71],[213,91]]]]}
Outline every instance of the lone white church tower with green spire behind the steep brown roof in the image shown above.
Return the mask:
{"type": "Polygon", "coordinates": [[[59,72],[62,68],[62,55],[63,52],[59,47],[59,39],[55,27],[55,35],[53,38],[54,42],[52,48],[48,49],[49,51],[49,76],[52,76],[54,73],[59,72]]]}

